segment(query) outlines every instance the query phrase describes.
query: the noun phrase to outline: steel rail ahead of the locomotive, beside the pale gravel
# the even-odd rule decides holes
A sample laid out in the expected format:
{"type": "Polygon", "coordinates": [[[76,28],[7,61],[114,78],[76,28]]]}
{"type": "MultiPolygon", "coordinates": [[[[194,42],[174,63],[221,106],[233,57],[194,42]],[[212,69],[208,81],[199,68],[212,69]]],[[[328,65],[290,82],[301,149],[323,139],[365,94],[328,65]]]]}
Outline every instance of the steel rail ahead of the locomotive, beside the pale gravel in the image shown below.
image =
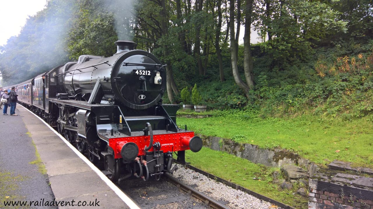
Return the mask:
{"type": "Polygon", "coordinates": [[[206,194],[197,191],[193,187],[182,183],[181,181],[175,179],[174,177],[170,176],[169,174],[164,174],[164,177],[167,178],[172,184],[177,186],[179,189],[184,190],[189,195],[196,197],[197,199],[202,200],[207,206],[215,209],[229,209],[227,206],[223,205],[222,203],[218,202],[217,200],[212,199],[211,197],[207,196],[206,194]]]}

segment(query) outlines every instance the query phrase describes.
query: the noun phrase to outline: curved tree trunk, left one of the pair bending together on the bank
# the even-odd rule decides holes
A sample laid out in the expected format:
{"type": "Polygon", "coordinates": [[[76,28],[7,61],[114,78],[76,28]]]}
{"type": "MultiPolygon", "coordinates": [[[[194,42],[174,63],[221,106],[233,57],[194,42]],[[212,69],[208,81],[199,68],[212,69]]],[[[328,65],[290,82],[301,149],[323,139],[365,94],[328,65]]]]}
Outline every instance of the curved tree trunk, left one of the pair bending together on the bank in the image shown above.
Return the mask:
{"type": "Polygon", "coordinates": [[[238,73],[238,66],[237,66],[237,53],[236,53],[236,44],[235,44],[235,29],[234,29],[234,10],[235,10],[235,0],[230,0],[230,8],[229,8],[229,28],[231,30],[231,63],[232,63],[232,73],[234,80],[237,86],[244,91],[247,98],[249,98],[249,88],[247,85],[242,81],[241,77],[238,73]]]}

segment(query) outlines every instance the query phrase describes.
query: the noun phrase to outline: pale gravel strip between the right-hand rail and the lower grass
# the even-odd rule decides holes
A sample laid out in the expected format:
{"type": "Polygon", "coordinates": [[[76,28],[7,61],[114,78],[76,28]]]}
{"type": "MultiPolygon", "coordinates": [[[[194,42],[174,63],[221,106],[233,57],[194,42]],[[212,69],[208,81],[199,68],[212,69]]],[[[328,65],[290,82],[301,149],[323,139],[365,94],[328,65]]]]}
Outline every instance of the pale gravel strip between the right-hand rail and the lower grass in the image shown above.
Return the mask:
{"type": "Polygon", "coordinates": [[[178,166],[179,169],[172,174],[173,177],[183,181],[185,184],[197,185],[195,189],[216,200],[228,201],[229,203],[226,206],[231,209],[268,209],[272,205],[269,202],[260,200],[241,190],[233,189],[201,173],[185,168],[182,165],[178,166]]]}

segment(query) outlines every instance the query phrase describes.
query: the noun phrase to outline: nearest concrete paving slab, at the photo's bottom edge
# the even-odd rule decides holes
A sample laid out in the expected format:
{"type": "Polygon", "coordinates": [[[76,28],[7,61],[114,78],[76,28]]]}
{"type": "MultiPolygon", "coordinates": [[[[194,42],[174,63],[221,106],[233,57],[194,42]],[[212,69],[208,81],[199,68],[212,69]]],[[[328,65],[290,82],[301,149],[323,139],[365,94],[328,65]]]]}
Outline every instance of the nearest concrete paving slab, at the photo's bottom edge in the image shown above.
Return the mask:
{"type": "MultiPolygon", "coordinates": [[[[116,198],[116,194],[113,191],[107,191],[107,192],[99,192],[99,193],[94,193],[94,194],[87,194],[83,196],[78,196],[78,197],[69,197],[66,199],[62,199],[64,201],[69,201],[70,203],[72,200],[75,201],[75,204],[78,204],[79,201],[83,203],[84,201],[87,202],[89,205],[90,203],[97,203],[98,206],[80,206],[79,208],[100,208],[100,209],[128,209],[128,206],[126,206],[123,201],[118,200],[116,198]],[[90,202],[91,201],[91,202],[90,202]]],[[[61,206],[59,207],[60,209],[75,209],[76,206],[61,206]]]]}

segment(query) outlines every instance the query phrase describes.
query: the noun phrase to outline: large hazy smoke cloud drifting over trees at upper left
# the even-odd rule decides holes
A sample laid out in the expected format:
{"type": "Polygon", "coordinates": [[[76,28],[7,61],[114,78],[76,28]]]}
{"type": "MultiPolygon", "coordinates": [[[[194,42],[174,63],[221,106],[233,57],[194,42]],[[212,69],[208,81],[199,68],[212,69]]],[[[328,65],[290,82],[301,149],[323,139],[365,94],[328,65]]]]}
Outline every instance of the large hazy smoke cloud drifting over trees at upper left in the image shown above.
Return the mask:
{"type": "Polygon", "coordinates": [[[27,19],[21,33],[1,48],[3,83],[28,80],[68,61],[66,37],[72,22],[74,0],[49,0],[47,6],[27,19]]]}

